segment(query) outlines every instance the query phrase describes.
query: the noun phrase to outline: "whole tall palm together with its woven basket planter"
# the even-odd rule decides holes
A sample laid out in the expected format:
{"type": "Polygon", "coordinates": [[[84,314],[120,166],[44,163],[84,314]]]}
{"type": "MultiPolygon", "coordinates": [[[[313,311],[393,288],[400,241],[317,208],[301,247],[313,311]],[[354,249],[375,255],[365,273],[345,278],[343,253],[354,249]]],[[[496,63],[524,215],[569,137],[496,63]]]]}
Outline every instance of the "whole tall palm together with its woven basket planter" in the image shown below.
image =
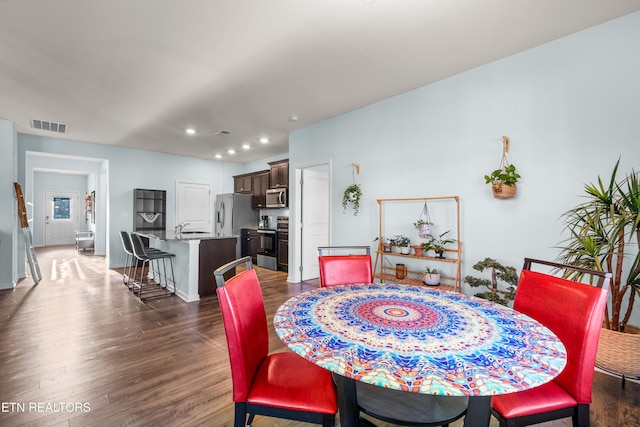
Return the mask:
{"type": "Polygon", "coordinates": [[[570,235],[561,243],[559,260],[612,274],[596,366],[639,376],[640,330],[628,321],[640,295],[640,177],[632,170],[618,181],[619,164],[608,183],[598,176],[597,184],[586,184],[587,200],[564,213],[570,235]]]}

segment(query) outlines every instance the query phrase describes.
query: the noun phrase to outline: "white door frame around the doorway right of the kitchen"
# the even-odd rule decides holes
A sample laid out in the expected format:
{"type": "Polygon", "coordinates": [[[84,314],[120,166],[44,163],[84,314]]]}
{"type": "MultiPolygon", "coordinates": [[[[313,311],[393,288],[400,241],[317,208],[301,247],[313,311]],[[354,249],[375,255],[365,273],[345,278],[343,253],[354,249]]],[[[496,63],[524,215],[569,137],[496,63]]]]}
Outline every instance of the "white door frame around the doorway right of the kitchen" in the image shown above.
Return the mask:
{"type": "MultiPolygon", "coordinates": [[[[289,248],[289,275],[287,277],[287,281],[293,283],[299,283],[302,281],[302,273],[300,272],[300,267],[302,266],[302,184],[300,182],[302,178],[302,171],[304,169],[309,168],[317,168],[318,166],[327,166],[328,169],[328,180],[329,180],[329,191],[328,191],[328,200],[327,203],[329,205],[329,244],[331,244],[331,229],[333,224],[333,206],[331,203],[331,194],[333,194],[333,179],[332,179],[332,160],[324,160],[319,162],[312,163],[303,163],[301,165],[295,165],[295,180],[294,180],[294,191],[293,191],[293,206],[290,208],[295,212],[293,217],[293,221],[289,222],[289,234],[292,239],[290,242],[293,242],[293,247],[289,248]]],[[[291,196],[291,194],[290,194],[291,196]]],[[[291,200],[291,198],[290,198],[291,200]]]]}

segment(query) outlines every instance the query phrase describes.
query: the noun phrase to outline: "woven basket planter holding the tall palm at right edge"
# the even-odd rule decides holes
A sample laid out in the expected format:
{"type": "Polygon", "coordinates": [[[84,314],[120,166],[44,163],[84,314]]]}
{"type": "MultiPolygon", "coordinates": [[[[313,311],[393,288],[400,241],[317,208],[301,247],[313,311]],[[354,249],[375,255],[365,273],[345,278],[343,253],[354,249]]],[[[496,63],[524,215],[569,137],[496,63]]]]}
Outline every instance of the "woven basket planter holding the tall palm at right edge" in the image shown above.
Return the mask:
{"type": "Polygon", "coordinates": [[[627,325],[626,332],[602,328],[596,366],[627,377],[640,377],[640,329],[627,325]]]}

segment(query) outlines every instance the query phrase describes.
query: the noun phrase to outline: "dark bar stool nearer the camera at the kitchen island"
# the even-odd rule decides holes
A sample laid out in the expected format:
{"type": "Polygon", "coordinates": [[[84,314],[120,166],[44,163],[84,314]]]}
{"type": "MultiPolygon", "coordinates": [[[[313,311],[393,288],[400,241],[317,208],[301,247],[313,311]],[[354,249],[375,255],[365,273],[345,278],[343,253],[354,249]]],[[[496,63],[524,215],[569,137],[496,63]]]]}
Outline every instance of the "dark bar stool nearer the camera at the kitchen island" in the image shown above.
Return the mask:
{"type": "Polygon", "coordinates": [[[131,246],[133,248],[133,256],[138,261],[133,273],[132,288],[135,294],[135,289],[138,289],[138,297],[140,299],[160,298],[163,296],[170,296],[176,292],[176,281],[173,272],[173,258],[174,254],[153,249],[145,249],[142,239],[137,234],[129,234],[131,240],[131,246]],[[152,263],[155,261],[155,269],[152,268],[152,263]],[[162,261],[162,269],[160,268],[160,261],[162,261]],[[167,261],[171,270],[171,277],[167,275],[167,261]],[[138,264],[141,264],[140,266],[138,264]],[[144,280],[145,266],[149,268],[149,274],[155,283],[150,283],[149,280],[144,280]],[[140,268],[140,276],[138,278],[138,268],[140,268]],[[169,284],[173,287],[170,289],[169,284]],[[146,298],[142,297],[143,292],[149,292],[151,295],[146,298]]]}

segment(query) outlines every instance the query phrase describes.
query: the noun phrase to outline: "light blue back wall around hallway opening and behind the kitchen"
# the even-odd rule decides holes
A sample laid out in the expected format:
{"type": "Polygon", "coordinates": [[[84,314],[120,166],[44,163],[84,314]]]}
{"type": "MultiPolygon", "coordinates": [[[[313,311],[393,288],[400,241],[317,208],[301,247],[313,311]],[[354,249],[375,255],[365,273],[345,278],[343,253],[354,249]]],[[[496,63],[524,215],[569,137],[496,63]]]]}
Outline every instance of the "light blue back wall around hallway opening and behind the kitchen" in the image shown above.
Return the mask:
{"type": "MultiPolygon", "coordinates": [[[[196,159],[185,156],[172,156],[141,150],[120,147],[89,144],[58,138],[48,138],[34,135],[18,135],[18,164],[24,170],[23,180],[31,181],[34,173],[33,166],[27,162],[32,153],[36,157],[54,156],[51,162],[57,164],[62,156],[72,162],[99,160],[98,194],[108,193],[102,201],[105,227],[105,241],[107,264],[110,268],[124,265],[124,252],[118,237],[120,230],[131,230],[133,226],[133,189],[149,188],[167,191],[167,227],[175,226],[175,187],[176,181],[207,183],[211,186],[212,194],[232,192],[233,175],[244,173],[245,165],[196,159]],[[105,168],[108,165],[108,173],[105,168]],[[102,181],[107,181],[106,183],[102,181]]],[[[69,166],[73,167],[73,166],[69,166]]],[[[32,187],[32,186],[29,186],[32,187]]],[[[33,191],[25,191],[29,201],[33,198],[33,191]]],[[[99,197],[99,196],[98,196],[99,197]]],[[[100,201],[100,199],[99,199],[100,201]]],[[[100,206],[100,205],[98,205],[100,206]]],[[[213,198],[212,198],[213,212],[213,198]]],[[[98,211],[99,213],[100,211],[98,211]]],[[[100,221],[99,218],[96,222],[100,221]]],[[[96,224],[97,225],[97,224],[96,224]]],[[[96,236],[96,239],[98,236],[96,236]]],[[[96,245],[97,245],[96,241],[96,245]]]]}

